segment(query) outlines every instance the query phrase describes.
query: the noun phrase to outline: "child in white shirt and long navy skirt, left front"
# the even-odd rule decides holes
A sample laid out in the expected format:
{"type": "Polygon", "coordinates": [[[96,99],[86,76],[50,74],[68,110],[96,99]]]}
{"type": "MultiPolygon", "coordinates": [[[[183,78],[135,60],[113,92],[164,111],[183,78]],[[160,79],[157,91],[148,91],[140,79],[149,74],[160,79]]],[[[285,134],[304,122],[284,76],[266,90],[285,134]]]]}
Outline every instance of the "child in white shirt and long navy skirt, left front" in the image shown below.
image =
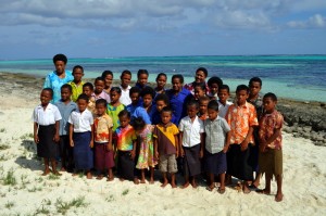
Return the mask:
{"type": "MultiPolygon", "coordinates": [[[[85,170],[87,179],[91,179],[90,169],[93,167],[93,118],[91,112],[87,110],[88,100],[85,93],[78,97],[78,110],[72,112],[68,123],[71,124],[70,143],[74,148],[75,168],[85,170]]],[[[73,174],[73,176],[75,175],[73,174]]]]}

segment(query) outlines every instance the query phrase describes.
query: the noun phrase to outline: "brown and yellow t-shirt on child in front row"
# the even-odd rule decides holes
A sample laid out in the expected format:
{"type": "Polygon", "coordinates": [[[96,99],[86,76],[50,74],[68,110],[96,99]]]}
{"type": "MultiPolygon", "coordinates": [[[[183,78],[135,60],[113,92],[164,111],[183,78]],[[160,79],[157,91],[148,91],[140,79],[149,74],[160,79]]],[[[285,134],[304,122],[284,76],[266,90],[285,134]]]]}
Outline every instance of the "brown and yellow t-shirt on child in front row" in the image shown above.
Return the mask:
{"type": "Polygon", "coordinates": [[[176,153],[176,135],[179,130],[175,124],[170,124],[164,127],[164,125],[156,125],[153,131],[153,137],[158,139],[158,151],[159,154],[175,154],[176,153]]]}

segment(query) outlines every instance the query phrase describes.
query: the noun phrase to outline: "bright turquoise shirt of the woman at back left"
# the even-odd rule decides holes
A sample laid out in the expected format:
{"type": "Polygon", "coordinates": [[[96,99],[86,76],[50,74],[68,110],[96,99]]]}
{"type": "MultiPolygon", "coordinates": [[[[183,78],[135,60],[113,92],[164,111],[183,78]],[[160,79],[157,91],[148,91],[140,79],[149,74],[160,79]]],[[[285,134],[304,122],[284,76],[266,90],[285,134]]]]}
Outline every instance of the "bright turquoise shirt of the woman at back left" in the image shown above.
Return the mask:
{"type": "Polygon", "coordinates": [[[74,76],[71,71],[65,71],[64,78],[60,78],[55,71],[48,74],[43,88],[51,88],[53,90],[53,99],[51,103],[54,104],[61,99],[61,87],[72,80],[74,80],[74,76]]]}

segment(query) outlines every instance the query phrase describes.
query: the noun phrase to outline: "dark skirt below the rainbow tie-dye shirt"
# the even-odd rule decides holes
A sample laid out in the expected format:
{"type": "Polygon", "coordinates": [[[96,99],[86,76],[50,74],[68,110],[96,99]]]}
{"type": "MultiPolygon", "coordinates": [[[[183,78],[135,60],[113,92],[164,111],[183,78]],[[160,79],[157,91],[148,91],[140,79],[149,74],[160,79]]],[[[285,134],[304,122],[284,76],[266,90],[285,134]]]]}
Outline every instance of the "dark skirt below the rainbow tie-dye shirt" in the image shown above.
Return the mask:
{"type": "Polygon", "coordinates": [[[135,161],[131,160],[130,151],[117,152],[117,171],[121,178],[134,180],[135,161]]]}

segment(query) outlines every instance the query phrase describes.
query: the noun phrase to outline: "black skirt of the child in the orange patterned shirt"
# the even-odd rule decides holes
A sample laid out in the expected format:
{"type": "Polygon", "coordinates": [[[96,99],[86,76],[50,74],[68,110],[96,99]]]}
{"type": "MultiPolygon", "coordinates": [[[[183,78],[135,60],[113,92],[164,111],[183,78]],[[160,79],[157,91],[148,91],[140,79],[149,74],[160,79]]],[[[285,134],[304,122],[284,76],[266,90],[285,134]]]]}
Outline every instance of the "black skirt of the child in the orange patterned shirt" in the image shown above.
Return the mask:
{"type": "Polygon", "coordinates": [[[249,143],[246,151],[241,151],[240,144],[230,144],[226,154],[227,174],[240,180],[253,180],[253,165],[250,155],[252,145],[249,143]]]}

